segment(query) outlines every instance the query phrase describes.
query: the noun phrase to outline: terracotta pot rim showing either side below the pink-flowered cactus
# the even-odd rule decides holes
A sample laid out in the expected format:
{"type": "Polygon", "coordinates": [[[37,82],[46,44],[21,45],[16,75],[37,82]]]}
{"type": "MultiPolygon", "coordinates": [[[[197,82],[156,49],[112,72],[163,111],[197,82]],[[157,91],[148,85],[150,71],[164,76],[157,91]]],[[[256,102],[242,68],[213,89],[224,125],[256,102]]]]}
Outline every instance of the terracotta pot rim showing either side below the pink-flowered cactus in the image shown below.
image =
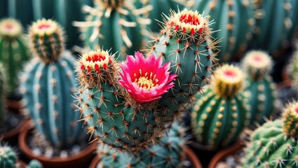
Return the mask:
{"type": "MultiPolygon", "coordinates": [[[[187,158],[189,159],[193,167],[196,167],[196,168],[202,167],[200,160],[198,160],[198,158],[196,157],[196,153],[191,151],[190,148],[184,148],[184,153],[187,155],[187,158]]],[[[89,168],[96,168],[98,162],[100,162],[100,156],[97,155],[90,163],[89,168]]]]}

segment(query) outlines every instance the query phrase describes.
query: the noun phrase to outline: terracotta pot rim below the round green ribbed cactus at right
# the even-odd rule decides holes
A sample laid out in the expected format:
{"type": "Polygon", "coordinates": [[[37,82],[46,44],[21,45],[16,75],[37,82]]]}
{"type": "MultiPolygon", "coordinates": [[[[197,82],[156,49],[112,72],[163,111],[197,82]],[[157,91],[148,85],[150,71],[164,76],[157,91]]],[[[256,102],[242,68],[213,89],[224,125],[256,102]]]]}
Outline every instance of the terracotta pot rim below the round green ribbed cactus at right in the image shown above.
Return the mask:
{"type": "Polygon", "coordinates": [[[224,148],[222,151],[219,151],[210,161],[210,164],[208,165],[208,168],[215,168],[217,163],[223,160],[226,156],[231,155],[233,153],[236,153],[237,151],[241,150],[243,148],[243,141],[238,141],[236,144],[233,144],[232,146],[229,146],[227,148],[224,148]]]}

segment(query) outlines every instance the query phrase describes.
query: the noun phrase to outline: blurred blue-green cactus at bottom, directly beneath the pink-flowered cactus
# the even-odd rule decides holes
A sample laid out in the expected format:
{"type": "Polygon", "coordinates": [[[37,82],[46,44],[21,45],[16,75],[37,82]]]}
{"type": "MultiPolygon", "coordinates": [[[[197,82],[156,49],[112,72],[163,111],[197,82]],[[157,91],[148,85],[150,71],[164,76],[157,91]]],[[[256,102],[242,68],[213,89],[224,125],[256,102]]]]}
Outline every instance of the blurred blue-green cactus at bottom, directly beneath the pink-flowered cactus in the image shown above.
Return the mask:
{"type": "Polygon", "coordinates": [[[100,162],[97,167],[182,167],[184,148],[184,128],[179,123],[173,123],[168,135],[163,134],[159,144],[140,153],[116,153],[109,148],[98,148],[100,162]]]}

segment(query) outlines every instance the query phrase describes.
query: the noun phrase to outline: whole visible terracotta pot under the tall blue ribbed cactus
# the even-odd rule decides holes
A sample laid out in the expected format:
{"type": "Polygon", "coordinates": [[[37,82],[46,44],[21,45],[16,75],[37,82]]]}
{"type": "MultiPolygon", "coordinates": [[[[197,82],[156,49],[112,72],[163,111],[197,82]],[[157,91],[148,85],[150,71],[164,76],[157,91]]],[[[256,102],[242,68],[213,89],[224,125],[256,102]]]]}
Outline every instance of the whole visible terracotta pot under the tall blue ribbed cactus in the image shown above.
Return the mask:
{"type": "Polygon", "coordinates": [[[32,129],[32,122],[28,122],[27,125],[25,125],[25,129],[20,133],[18,145],[20,150],[25,153],[29,159],[39,160],[44,168],[86,167],[95,155],[95,150],[97,148],[96,142],[89,144],[83,151],[76,155],[69,156],[68,158],[47,158],[44,155],[35,155],[27,145],[26,141],[27,136],[32,129]]]}

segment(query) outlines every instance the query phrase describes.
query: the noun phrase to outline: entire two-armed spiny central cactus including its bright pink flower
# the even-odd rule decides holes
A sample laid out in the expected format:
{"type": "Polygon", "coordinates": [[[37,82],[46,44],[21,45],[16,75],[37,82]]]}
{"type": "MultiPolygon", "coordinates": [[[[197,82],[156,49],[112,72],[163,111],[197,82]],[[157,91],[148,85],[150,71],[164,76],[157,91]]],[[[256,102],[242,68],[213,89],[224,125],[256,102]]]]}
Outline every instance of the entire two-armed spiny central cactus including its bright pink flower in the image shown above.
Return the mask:
{"type": "Polygon", "coordinates": [[[124,151],[139,151],[155,141],[210,76],[215,46],[208,24],[208,17],[196,11],[172,13],[152,47],[157,55],[145,59],[136,52],[121,64],[120,73],[107,51],[82,55],[77,66],[78,106],[88,132],[102,144],[124,151]]]}

